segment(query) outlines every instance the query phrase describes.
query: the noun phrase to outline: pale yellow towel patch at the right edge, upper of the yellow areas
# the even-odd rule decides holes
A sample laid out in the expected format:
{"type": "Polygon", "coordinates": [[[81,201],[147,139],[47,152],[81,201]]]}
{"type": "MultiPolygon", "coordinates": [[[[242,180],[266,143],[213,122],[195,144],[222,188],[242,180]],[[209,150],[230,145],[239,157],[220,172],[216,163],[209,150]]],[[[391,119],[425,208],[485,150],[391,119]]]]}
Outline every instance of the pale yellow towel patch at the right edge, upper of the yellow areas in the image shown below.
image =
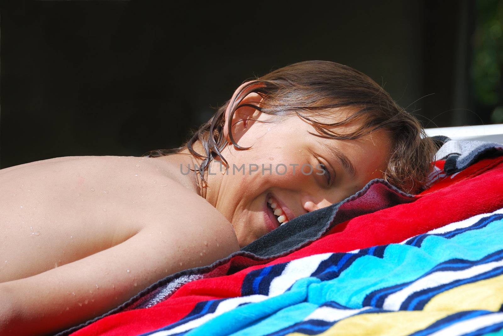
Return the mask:
{"type": "Polygon", "coordinates": [[[503,275],[455,287],[436,295],[423,310],[491,310],[503,303],[503,275]]]}

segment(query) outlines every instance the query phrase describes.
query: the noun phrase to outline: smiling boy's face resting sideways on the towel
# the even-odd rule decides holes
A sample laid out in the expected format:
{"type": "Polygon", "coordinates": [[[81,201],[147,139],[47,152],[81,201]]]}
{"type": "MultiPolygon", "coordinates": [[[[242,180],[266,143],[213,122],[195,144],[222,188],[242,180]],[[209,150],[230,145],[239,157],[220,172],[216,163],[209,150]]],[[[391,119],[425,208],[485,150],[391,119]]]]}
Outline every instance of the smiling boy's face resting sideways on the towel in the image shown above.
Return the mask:
{"type": "MultiPolygon", "coordinates": [[[[218,162],[211,167],[212,174],[222,176],[216,207],[232,223],[241,247],[280,225],[268,199],[276,203],[276,209],[281,208],[288,221],[344,200],[370,180],[382,178],[386,169],[390,146],[383,131],[360,140],[333,140],[309,134],[317,132],[297,116],[273,123],[260,122],[275,120],[266,114],[254,117],[259,122],[248,122],[246,128],[236,123],[236,134],[233,132],[239,146],[251,148],[236,150],[228,145],[222,151],[229,163],[224,175],[218,171],[218,162]]],[[[358,126],[333,130],[350,131],[358,126]]]]}

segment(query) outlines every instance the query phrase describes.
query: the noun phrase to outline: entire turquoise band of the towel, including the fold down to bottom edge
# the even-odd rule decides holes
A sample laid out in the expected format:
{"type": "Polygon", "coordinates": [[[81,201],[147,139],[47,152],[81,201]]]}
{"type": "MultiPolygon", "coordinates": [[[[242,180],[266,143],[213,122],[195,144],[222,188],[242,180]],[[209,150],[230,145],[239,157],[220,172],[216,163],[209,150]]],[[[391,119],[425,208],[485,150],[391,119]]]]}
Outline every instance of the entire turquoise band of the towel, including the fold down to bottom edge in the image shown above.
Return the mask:
{"type": "Polygon", "coordinates": [[[232,309],[186,335],[265,335],[304,320],[327,301],[361,308],[365,296],[376,289],[415,280],[449,259],[477,260],[500,250],[502,244],[494,237],[499,237],[502,225],[503,219],[497,220],[451,239],[429,236],[421,248],[392,244],[384,258],[363,256],[330,281],[303,278],[281,295],[232,309]]]}

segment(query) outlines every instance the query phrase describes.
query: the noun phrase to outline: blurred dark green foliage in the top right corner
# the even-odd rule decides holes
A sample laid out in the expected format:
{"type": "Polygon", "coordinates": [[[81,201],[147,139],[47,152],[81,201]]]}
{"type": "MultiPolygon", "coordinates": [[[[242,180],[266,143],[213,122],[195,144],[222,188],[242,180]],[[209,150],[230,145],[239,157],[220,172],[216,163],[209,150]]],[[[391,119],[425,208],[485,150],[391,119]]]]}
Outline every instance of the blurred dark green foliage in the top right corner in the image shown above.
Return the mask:
{"type": "Polygon", "coordinates": [[[503,0],[475,2],[471,76],[478,104],[493,107],[493,123],[503,123],[503,0]]]}

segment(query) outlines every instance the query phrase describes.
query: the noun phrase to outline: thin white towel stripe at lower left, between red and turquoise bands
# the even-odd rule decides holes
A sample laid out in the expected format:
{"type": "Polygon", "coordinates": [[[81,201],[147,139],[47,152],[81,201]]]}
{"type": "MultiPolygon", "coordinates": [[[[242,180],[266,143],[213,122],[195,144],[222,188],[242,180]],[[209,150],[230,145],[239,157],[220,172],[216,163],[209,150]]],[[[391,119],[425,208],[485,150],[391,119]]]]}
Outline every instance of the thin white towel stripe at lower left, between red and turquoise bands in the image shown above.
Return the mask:
{"type": "Polygon", "coordinates": [[[203,316],[194,319],[192,321],[189,321],[187,323],[184,323],[182,325],[179,325],[171,330],[161,330],[157,331],[156,333],[153,333],[152,335],[155,336],[166,336],[166,335],[172,335],[174,333],[179,333],[183,331],[187,331],[190,329],[193,329],[195,327],[200,326],[201,324],[209,321],[210,319],[221,315],[229,310],[232,310],[236,308],[238,305],[242,303],[252,303],[252,302],[260,302],[264,301],[268,297],[266,295],[249,295],[249,296],[240,296],[240,297],[234,297],[228,300],[224,300],[218,304],[218,307],[214,312],[211,313],[206,313],[203,316]]]}

